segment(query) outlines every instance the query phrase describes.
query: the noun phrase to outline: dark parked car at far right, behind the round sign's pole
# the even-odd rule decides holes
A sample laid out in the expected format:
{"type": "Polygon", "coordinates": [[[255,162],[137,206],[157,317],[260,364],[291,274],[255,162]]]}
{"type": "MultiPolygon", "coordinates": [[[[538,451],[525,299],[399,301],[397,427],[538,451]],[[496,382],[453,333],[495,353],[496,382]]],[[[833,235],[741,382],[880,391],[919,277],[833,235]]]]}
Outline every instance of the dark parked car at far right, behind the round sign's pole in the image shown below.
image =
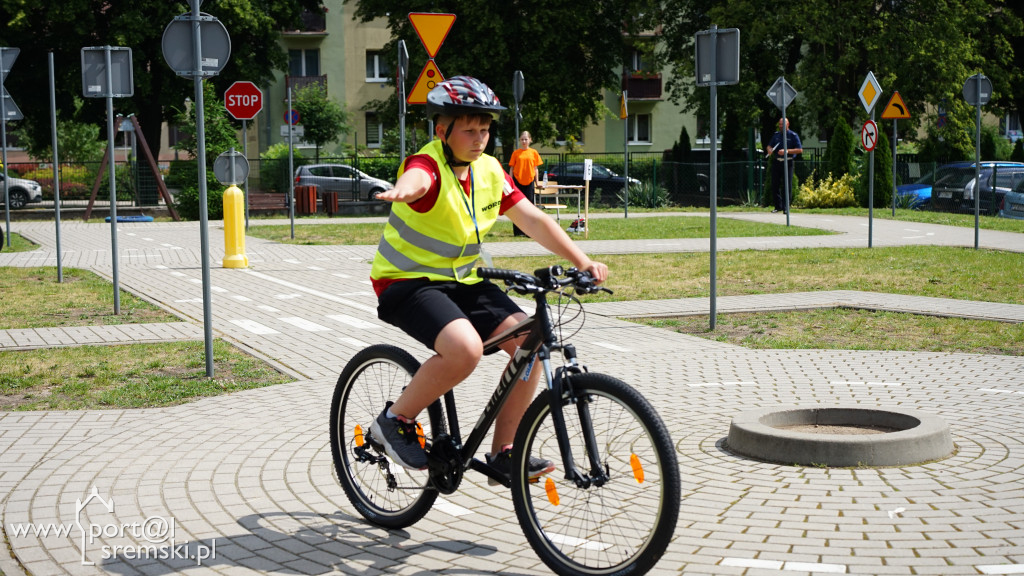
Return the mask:
{"type": "MultiPolygon", "coordinates": [[[[947,173],[932,186],[932,208],[948,212],[974,212],[974,162],[947,165],[947,173]]],[[[995,214],[1002,197],[1024,180],[1024,162],[982,162],[980,208],[995,214]]]]}

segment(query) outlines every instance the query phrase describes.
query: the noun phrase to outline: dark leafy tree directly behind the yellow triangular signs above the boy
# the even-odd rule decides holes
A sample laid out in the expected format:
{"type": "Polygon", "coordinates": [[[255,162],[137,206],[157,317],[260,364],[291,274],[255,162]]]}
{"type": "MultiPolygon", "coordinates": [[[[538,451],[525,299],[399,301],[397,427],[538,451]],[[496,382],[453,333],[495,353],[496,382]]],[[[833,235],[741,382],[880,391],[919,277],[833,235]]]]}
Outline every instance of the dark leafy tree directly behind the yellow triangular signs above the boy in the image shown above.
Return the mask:
{"type": "MultiPolygon", "coordinates": [[[[356,1],[355,15],[362,22],[387,18],[392,41],[384,47],[385,53],[396,53],[397,41],[406,41],[410,87],[427,54],[407,14],[457,13],[437,54],[441,73],[446,78],[460,74],[478,78],[505,106],[511,106],[512,77],[521,70],[525,91],[520,124],[529,126],[538,141],[579,134],[586,124],[603,118],[607,111],[604,90],[620,89],[618,71],[627,56],[624,34],[652,28],[649,22],[654,14],[651,0],[597,0],[586,9],[575,0],[356,1]]],[[[384,114],[382,109],[378,113],[384,114]]],[[[506,155],[515,149],[508,143],[516,141],[511,114],[505,115],[500,126],[506,155]]],[[[422,107],[410,107],[407,124],[415,125],[423,118],[422,107]]]]}

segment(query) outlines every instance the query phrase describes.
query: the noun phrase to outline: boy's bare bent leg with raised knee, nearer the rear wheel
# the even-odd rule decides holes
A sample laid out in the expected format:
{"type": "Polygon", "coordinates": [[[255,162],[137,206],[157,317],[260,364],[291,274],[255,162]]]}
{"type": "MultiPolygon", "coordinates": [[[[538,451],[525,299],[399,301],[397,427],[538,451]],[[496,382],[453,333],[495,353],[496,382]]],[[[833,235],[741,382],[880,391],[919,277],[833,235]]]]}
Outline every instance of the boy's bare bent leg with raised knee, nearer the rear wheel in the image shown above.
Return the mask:
{"type": "Polygon", "coordinates": [[[431,402],[473,373],[483,356],[483,342],[468,320],[458,319],[437,334],[434,351],[437,354],[416,371],[391,412],[415,420],[431,402]]]}

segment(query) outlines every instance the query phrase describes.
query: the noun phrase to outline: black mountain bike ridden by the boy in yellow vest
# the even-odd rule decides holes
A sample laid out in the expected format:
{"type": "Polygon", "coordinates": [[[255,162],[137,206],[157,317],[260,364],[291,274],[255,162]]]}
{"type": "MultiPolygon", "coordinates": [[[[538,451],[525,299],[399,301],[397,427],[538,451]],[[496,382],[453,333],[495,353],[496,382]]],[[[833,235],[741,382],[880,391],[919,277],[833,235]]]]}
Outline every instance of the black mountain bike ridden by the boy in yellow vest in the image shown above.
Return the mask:
{"type": "MultiPolygon", "coordinates": [[[[512,489],[516,517],[537,554],[562,575],[643,574],[662,558],[675,531],[680,506],[676,452],[660,417],[626,382],[587,372],[575,348],[562,337],[583,307],[577,294],[605,290],[587,273],[561,266],[534,275],[478,269],[482,278],[505,281],[508,290],[532,295],[536,314],[484,342],[484,352],[525,334],[483,413],[463,438],[455,395],[427,408],[425,470],[392,461],[372,438],[370,424],[394,400],[420,364],[401,348],[378,344],[345,366],[331,404],[331,451],[341,486],[370,522],[404,528],[424,517],[438,494],[458,490],[472,469],[512,489]],[[555,317],[548,294],[558,295],[555,317]],[[567,305],[572,303],[572,306],[567,305]],[[572,311],[575,311],[574,315],[572,311]],[[552,368],[552,353],[563,357],[552,368]],[[516,430],[512,478],[474,457],[512,383],[544,371],[546,387],[516,430]],[[556,462],[556,470],[529,481],[529,457],[556,462]]],[[[579,327],[575,327],[579,330],[579,327]]],[[[574,332],[573,332],[574,333],[574,332]]]]}

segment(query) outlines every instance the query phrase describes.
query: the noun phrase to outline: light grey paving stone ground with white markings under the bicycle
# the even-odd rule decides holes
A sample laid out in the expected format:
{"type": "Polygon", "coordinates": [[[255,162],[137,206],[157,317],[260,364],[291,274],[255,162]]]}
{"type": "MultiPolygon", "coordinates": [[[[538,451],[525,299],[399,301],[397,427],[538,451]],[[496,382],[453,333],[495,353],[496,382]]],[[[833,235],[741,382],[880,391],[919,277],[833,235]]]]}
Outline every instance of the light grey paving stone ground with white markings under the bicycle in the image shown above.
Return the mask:
{"type": "MultiPolygon", "coordinates": [[[[728,217],[784,221],[766,213],[728,217]]],[[[839,234],[720,239],[718,247],[867,245],[863,218],[794,214],[793,222],[839,234]]],[[[0,331],[0,349],[203,337],[198,225],[118,228],[122,288],[181,322],[0,331]]],[[[52,222],[12,229],[42,248],[0,252],[0,266],[55,265],[52,222]]],[[[110,240],[108,224],[65,222],[63,265],[110,278],[110,240]]],[[[373,247],[285,246],[250,237],[250,268],[226,270],[219,268],[220,222],[211,223],[210,240],[215,335],[295,381],[166,409],[0,413],[0,572],[550,574],[522,536],[508,493],[476,475],[401,531],[369,525],[342,493],[326,433],[346,360],[382,341],[426,357],[376,318],[368,282],[373,247]],[[113,546],[147,541],[173,541],[178,547],[163,549],[208,558],[202,566],[104,558],[113,546]]],[[[581,242],[593,253],[709,249],[707,240],[581,242]]],[[[872,242],[973,246],[974,232],[876,219],[872,242]]],[[[980,245],[1024,250],[1022,235],[1009,233],[982,231],[980,245]]],[[[544,253],[524,243],[490,251],[544,253]]],[[[1024,320],[1022,306],[851,291],[718,299],[720,312],[821,305],[1024,320]]],[[[1024,574],[1024,359],[749,351],[617,320],[707,310],[707,299],[588,304],[587,324],[573,339],[592,370],[652,401],[677,446],[682,510],[651,574],[1024,574]],[[915,466],[830,469],[762,463],[723,448],[739,411],[818,404],[938,415],[949,423],[956,452],[915,466]]],[[[457,388],[463,414],[486,402],[501,364],[484,359],[457,388]]]]}

